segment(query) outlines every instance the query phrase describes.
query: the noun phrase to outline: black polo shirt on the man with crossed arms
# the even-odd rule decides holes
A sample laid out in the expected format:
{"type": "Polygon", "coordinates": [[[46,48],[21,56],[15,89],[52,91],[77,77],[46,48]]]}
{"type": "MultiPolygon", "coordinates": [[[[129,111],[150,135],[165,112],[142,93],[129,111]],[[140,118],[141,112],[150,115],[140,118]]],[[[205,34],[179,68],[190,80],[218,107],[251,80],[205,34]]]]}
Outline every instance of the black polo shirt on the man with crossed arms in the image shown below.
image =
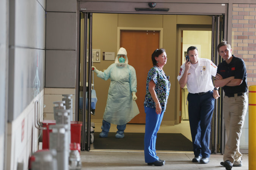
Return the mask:
{"type": "Polygon", "coordinates": [[[242,79],[243,82],[238,86],[224,86],[223,90],[226,94],[245,93],[247,92],[247,73],[245,62],[232,55],[232,60],[228,64],[224,60],[218,65],[217,73],[220,74],[223,79],[234,76],[235,79],[242,79]]]}

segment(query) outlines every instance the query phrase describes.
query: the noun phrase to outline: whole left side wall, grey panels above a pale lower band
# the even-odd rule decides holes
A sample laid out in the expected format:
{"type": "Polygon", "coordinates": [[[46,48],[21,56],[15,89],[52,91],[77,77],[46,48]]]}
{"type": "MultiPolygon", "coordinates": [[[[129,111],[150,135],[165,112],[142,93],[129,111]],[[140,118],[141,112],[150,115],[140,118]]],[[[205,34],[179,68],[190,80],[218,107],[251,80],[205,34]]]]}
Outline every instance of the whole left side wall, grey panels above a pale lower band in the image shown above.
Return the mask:
{"type": "Polygon", "coordinates": [[[9,34],[5,35],[9,39],[9,90],[5,169],[14,170],[27,169],[28,158],[39,148],[39,131],[34,126],[34,117],[35,101],[38,100],[39,118],[42,121],[46,2],[44,0],[8,2],[9,8],[6,9],[9,9],[7,14],[9,24],[6,25],[9,26],[9,34]]]}

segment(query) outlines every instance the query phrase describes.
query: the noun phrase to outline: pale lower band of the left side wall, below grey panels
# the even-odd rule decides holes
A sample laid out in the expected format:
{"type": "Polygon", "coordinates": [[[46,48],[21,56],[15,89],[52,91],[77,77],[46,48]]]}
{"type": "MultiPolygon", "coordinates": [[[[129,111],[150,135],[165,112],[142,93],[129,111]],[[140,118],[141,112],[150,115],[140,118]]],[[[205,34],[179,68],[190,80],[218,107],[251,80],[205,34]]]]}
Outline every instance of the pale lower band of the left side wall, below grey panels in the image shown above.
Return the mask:
{"type": "Polygon", "coordinates": [[[35,128],[35,102],[38,100],[38,121],[43,120],[44,90],[36,96],[22,113],[8,123],[6,169],[27,169],[32,153],[41,149],[39,136],[42,132],[35,128]]]}

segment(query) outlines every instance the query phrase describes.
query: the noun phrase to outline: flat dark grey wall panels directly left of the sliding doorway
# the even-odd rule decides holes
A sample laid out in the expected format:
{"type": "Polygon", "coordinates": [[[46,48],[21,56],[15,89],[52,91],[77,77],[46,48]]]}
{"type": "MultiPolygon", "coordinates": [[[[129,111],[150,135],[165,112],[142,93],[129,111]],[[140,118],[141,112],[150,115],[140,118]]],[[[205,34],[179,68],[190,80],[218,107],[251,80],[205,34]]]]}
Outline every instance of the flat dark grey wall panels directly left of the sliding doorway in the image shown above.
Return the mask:
{"type": "Polygon", "coordinates": [[[75,88],[77,1],[46,1],[45,87],[75,88]]]}

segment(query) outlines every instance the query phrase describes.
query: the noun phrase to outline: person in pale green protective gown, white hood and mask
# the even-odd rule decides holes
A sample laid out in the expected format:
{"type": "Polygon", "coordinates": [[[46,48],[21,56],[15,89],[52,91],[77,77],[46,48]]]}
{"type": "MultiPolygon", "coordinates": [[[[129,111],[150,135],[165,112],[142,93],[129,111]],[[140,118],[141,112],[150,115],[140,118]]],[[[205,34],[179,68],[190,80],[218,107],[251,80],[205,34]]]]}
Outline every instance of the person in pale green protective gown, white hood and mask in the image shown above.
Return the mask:
{"type": "Polygon", "coordinates": [[[102,120],[101,138],[108,137],[110,124],[116,124],[116,138],[124,138],[126,124],[137,114],[138,106],[135,102],[137,96],[137,78],[135,69],[128,64],[126,49],[121,47],[115,58],[115,63],[110,65],[104,72],[97,70],[94,66],[97,77],[104,80],[110,79],[108,89],[107,105],[102,120]]]}

